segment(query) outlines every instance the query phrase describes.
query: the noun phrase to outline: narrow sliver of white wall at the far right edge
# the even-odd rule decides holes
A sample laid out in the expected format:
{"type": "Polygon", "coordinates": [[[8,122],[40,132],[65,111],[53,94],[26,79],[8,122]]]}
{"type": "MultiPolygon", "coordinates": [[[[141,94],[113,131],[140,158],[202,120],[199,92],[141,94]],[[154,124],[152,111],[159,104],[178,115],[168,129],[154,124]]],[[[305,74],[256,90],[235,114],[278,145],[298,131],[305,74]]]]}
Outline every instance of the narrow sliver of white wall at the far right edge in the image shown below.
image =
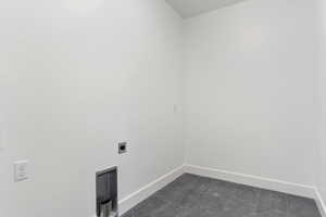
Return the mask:
{"type": "Polygon", "coordinates": [[[317,90],[318,90],[318,167],[317,188],[326,202],[326,2],[317,0],[317,33],[318,33],[318,56],[317,56],[317,90]]]}

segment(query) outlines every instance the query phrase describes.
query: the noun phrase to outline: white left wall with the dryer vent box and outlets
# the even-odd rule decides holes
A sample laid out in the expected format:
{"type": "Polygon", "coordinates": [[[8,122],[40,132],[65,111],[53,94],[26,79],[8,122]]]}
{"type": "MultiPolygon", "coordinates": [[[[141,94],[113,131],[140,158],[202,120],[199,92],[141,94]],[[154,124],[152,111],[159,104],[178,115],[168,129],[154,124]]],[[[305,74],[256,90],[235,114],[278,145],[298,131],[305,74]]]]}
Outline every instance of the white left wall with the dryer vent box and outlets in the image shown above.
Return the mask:
{"type": "Polygon", "coordinates": [[[90,217],[98,169],[118,166],[123,199],[183,164],[181,20],[164,1],[2,1],[0,26],[1,217],[90,217]]]}

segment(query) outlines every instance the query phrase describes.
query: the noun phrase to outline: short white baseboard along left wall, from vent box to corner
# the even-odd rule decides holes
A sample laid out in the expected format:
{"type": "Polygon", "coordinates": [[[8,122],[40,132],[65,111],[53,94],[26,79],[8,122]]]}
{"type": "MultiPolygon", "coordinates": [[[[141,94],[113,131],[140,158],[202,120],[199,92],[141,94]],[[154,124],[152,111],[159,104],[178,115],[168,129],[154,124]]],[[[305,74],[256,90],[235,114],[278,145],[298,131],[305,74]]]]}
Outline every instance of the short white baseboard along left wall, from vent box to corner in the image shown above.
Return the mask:
{"type": "Polygon", "coordinates": [[[138,191],[129,194],[128,196],[118,201],[118,212],[120,214],[124,214],[135,205],[143,201],[145,199],[149,197],[151,194],[155,193],[179,176],[185,173],[184,166],[179,166],[168,174],[158,178],[156,180],[150,182],[149,184],[142,187],[138,191]]]}

